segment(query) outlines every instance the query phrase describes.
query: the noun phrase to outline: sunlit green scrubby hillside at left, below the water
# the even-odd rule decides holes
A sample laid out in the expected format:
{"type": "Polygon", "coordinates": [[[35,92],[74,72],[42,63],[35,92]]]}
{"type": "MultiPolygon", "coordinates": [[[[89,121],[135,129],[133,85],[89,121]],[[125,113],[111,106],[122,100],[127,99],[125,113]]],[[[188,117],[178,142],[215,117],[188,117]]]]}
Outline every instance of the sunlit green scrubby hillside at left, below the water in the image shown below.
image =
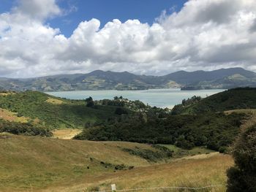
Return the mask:
{"type": "Polygon", "coordinates": [[[0,112],[23,117],[48,128],[83,128],[86,123],[113,117],[117,107],[86,107],[84,100],[59,99],[37,91],[0,95],[0,112]]]}

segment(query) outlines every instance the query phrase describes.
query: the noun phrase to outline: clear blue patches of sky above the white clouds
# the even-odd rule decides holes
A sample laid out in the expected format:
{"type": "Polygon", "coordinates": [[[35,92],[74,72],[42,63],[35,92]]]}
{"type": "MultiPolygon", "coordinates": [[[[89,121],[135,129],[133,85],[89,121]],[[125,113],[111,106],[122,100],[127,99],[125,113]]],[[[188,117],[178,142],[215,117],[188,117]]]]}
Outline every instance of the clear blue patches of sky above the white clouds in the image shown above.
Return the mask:
{"type": "MultiPolygon", "coordinates": [[[[43,0],[42,0],[43,1],[43,0]]],[[[0,0],[0,12],[8,12],[17,1],[0,0]]],[[[53,28],[60,28],[61,33],[69,37],[83,20],[97,18],[101,28],[118,18],[121,22],[138,19],[141,23],[154,23],[163,10],[167,13],[179,11],[185,0],[58,0],[57,4],[66,12],[62,16],[48,19],[53,28]],[[156,3],[157,2],[157,3],[156,3]]]]}

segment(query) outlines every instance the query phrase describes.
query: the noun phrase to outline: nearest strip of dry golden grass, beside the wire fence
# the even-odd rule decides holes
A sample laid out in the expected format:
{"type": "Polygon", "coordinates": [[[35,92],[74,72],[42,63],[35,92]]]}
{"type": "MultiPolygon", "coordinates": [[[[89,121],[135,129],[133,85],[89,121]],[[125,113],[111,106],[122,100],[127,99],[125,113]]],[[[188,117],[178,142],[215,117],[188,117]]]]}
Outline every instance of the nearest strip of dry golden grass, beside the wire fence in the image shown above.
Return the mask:
{"type": "MultiPolygon", "coordinates": [[[[230,155],[215,154],[207,158],[189,159],[170,162],[169,164],[138,167],[132,170],[102,174],[93,181],[86,177],[72,186],[48,188],[49,191],[99,191],[110,190],[115,183],[118,189],[152,188],[157,186],[203,187],[206,185],[222,185],[203,191],[225,191],[226,169],[233,165],[230,155]]],[[[149,190],[140,190],[149,191],[149,190]]],[[[178,190],[153,190],[178,191],[178,190]]]]}

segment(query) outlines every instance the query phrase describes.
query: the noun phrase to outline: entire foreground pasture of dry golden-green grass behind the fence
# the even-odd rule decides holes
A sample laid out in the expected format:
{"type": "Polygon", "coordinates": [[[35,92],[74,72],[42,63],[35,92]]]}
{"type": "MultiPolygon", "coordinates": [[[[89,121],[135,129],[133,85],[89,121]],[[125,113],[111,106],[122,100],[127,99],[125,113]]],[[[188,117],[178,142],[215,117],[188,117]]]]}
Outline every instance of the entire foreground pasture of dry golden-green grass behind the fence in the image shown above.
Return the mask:
{"type": "Polygon", "coordinates": [[[124,148],[151,154],[162,150],[129,142],[1,134],[0,146],[0,191],[93,191],[109,189],[110,183],[118,188],[222,184],[225,169],[233,164],[228,155],[210,154],[153,164],[124,148]]]}

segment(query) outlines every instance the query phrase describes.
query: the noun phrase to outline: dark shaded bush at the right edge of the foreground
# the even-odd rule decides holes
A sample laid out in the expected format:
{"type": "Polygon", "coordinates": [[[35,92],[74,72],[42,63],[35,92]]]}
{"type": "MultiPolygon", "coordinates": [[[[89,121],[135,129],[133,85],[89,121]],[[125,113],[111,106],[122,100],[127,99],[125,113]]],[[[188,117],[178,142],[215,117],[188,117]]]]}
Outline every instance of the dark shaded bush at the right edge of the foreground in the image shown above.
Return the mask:
{"type": "Polygon", "coordinates": [[[256,191],[256,125],[241,133],[232,153],[235,166],[227,170],[227,192],[256,191]]]}

